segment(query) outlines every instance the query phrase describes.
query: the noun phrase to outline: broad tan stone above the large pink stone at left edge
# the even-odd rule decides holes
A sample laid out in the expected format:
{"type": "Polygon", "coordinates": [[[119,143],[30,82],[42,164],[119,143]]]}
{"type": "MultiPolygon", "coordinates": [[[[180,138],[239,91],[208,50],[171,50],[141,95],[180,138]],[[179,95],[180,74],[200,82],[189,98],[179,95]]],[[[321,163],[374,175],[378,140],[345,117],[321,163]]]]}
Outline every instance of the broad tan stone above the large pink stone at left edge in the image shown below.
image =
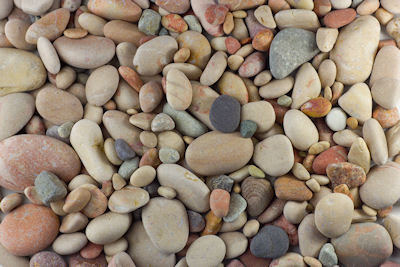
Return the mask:
{"type": "Polygon", "coordinates": [[[76,122],[83,117],[81,101],[71,93],[45,87],[36,96],[36,109],[46,120],[56,125],[76,122]]]}

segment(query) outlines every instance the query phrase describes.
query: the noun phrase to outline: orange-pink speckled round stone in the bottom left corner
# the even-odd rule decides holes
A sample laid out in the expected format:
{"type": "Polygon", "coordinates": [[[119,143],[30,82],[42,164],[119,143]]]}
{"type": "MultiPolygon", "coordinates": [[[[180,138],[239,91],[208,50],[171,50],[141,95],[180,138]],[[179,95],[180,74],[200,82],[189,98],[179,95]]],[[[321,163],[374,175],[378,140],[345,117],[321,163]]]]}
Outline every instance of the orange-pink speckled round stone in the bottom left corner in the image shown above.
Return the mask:
{"type": "Polygon", "coordinates": [[[0,242],[16,256],[28,256],[48,247],[60,222],[47,207],[25,204],[7,214],[0,225],[0,242]]]}

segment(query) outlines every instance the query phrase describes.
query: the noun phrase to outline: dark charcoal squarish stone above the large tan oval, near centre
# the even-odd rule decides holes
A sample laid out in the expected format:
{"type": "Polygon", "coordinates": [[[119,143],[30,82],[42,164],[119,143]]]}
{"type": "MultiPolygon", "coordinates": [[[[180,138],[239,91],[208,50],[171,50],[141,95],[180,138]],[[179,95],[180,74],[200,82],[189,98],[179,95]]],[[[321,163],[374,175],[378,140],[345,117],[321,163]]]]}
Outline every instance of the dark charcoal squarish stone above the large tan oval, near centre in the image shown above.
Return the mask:
{"type": "Polygon", "coordinates": [[[229,95],[220,95],[210,109],[211,124],[220,132],[234,132],[240,123],[240,103],[229,95]]]}

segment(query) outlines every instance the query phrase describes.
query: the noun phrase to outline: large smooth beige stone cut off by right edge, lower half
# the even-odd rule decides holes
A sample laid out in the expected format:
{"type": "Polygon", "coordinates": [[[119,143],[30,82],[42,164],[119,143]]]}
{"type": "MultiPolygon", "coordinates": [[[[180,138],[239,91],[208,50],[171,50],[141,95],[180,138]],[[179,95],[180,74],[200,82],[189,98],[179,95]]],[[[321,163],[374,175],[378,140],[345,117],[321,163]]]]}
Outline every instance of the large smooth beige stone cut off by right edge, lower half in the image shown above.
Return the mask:
{"type": "Polygon", "coordinates": [[[388,162],[373,167],[360,187],[361,200],[373,209],[392,206],[400,195],[400,165],[388,162]]]}

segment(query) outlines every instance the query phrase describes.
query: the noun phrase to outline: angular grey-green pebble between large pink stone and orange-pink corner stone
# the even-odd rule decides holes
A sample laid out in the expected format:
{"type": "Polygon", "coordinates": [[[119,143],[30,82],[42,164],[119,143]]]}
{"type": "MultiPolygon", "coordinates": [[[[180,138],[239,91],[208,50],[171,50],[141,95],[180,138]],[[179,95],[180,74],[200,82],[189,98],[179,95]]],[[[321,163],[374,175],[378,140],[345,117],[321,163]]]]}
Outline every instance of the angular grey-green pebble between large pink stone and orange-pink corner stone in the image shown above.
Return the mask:
{"type": "Polygon", "coordinates": [[[35,189],[45,204],[63,199],[67,195],[63,182],[55,174],[47,171],[42,171],[36,176],[35,189]]]}

